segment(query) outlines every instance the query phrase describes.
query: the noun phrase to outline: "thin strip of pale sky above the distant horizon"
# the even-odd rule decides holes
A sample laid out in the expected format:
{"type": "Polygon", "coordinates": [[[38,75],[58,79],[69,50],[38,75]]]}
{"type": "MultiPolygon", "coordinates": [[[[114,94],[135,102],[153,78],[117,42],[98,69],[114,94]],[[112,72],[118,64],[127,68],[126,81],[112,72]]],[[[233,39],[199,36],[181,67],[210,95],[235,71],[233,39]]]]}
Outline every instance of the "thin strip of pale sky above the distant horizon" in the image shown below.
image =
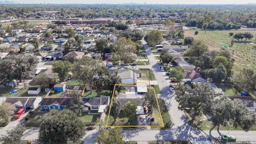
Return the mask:
{"type": "MultiPolygon", "coordinates": [[[[1,0],[0,0],[1,1],[1,0]]],[[[138,4],[248,4],[256,3],[255,0],[11,0],[17,3],[58,3],[58,4],[122,4],[122,3],[138,3],[138,4]]]]}

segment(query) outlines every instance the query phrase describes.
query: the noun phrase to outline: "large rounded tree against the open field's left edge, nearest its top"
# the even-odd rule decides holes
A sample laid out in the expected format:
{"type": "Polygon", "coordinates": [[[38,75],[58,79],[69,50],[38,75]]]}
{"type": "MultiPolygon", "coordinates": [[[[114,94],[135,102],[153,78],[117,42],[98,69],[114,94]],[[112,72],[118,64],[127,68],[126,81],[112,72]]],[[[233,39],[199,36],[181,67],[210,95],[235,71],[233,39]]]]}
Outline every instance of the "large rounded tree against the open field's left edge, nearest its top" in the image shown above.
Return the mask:
{"type": "Polygon", "coordinates": [[[208,46],[204,42],[194,41],[189,45],[187,55],[190,57],[190,59],[195,57],[198,60],[204,54],[204,52],[207,51],[208,46]]]}

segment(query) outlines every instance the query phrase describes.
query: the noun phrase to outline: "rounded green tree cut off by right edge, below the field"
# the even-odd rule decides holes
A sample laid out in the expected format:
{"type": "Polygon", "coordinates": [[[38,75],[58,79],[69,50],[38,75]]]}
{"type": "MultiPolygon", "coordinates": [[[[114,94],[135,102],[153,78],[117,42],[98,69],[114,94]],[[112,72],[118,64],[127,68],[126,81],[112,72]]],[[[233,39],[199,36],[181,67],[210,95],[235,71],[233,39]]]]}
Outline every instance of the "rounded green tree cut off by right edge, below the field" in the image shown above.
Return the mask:
{"type": "Polygon", "coordinates": [[[256,74],[253,69],[243,68],[233,77],[233,82],[239,90],[250,93],[256,89],[256,74]]]}

